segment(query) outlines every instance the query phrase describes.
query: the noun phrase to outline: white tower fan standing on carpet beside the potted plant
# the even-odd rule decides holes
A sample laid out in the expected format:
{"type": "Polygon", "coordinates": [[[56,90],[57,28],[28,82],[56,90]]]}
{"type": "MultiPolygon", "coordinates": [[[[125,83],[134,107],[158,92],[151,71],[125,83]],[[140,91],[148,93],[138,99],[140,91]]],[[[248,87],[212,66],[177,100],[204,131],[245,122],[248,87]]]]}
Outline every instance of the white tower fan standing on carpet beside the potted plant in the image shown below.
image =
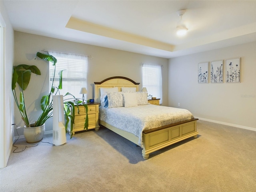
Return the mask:
{"type": "Polygon", "coordinates": [[[53,126],[52,126],[52,140],[53,144],[60,146],[66,143],[66,129],[64,121],[63,96],[53,96],[53,126]]]}

